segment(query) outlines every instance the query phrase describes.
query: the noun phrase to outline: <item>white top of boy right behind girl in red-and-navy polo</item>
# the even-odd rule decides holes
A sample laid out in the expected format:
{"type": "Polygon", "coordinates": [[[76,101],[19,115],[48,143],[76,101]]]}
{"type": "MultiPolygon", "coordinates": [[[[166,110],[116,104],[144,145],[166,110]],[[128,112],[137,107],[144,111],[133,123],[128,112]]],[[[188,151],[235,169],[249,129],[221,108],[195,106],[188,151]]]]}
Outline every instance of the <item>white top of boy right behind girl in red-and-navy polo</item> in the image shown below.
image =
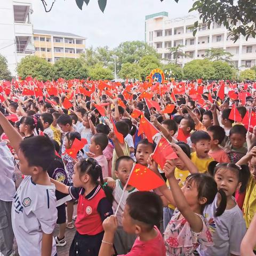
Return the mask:
{"type": "MultiPolygon", "coordinates": [[[[125,206],[125,203],[126,203],[126,199],[127,197],[135,192],[135,191],[138,191],[136,188],[132,188],[130,191],[127,191],[125,190],[124,191],[124,196],[122,198],[122,202],[119,206],[119,209],[118,209],[118,212],[116,214],[116,217],[117,217],[117,222],[118,222],[118,226],[119,227],[122,227],[122,214],[124,212],[124,206],[125,206]]],[[[113,213],[115,214],[116,212],[116,209],[117,209],[117,205],[119,204],[120,202],[120,198],[123,194],[123,186],[121,184],[121,181],[120,180],[116,180],[116,187],[115,189],[113,190],[113,197],[114,197],[114,201],[113,201],[113,205],[112,205],[112,209],[113,209],[113,213]]]]}

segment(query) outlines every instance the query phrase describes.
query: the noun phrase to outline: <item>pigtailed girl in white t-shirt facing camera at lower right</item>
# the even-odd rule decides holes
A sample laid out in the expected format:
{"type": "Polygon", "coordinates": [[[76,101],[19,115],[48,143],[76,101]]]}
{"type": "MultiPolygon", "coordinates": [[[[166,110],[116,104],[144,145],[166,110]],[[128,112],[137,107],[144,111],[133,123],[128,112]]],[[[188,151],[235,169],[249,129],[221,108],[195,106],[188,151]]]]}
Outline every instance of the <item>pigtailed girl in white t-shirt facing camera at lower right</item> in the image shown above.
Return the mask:
{"type": "Polygon", "coordinates": [[[219,191],[222,190],[227,196],[227,206],[225,212],[219,217],[214,215],[219,206],[218,196],[212,204],[205,206],[204,216],[211,225],[214,245],[207,247],[205,251],[198,250],[198,252],[203,256],[239,255],[246,227],[243,213],[233,195],[236,190],[241,193],[245,191],[250,171],[247,165],[238,166],[233,163],[217,164],[215,168],[211,165],[211,169],[209,172],[213,172],[219,191]]]}

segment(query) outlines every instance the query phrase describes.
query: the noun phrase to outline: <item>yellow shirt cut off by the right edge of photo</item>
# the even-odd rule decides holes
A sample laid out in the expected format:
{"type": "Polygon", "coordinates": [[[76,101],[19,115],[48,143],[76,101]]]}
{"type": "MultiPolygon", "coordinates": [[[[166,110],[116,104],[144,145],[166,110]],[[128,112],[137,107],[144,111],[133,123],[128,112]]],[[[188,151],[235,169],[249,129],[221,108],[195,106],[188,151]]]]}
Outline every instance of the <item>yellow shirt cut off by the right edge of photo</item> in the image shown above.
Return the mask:
{"type": "Polygon", "coordinates": [[[246,189],[246,194],[244,198],[243,213],[246,228],[249,228],[249,225],[252,221],[254,213],[256,213],[256,181],[253,179],[252,175],[249,181],[249,184],[246,189]]]}

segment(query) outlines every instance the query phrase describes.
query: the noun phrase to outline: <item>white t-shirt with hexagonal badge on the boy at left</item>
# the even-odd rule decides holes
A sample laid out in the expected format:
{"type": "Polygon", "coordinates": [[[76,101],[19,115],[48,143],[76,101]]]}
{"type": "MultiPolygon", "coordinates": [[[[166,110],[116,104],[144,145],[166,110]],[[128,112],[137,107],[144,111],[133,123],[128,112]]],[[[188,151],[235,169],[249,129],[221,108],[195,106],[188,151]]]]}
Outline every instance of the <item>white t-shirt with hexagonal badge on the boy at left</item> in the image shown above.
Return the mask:
{"type": "MultiPolygon", "coordinates": [[[[57,221],[55,186],[42,186],[26,176],[12,202],[12,228],[20,256],[41,255],[43,232],[52,234],[57,221]]],[[[57,253],[52,240],[52,256],[57,253]]]]}

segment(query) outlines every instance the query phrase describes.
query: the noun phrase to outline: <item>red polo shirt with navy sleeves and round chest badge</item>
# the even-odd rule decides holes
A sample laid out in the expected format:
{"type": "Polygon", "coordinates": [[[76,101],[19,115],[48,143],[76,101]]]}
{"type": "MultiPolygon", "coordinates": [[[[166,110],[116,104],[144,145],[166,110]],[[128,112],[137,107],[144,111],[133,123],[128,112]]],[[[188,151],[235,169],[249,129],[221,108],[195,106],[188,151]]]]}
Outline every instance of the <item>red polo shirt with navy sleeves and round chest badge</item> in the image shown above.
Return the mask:
{"type": "Polygon", "coordinates": [[[97,235],[103,231],[102,222],[113,214],[112,206],[100,185],[87,196],[84,188],[69,187],[69,194],[78,199],[76,230],[81,235],[97,235]]]}

